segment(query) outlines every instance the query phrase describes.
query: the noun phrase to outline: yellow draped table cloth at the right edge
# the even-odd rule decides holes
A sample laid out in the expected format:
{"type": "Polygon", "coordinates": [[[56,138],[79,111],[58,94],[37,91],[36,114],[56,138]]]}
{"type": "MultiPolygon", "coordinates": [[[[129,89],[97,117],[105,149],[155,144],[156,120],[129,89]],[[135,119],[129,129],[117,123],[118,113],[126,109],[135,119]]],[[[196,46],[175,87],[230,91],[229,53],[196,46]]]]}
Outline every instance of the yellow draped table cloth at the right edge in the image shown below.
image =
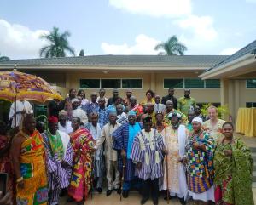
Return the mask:
{"type": "Polygon", "coordinates": [[[256,108],[239,108],[236,117],[236,133],[256,137],[256,108]]]}

